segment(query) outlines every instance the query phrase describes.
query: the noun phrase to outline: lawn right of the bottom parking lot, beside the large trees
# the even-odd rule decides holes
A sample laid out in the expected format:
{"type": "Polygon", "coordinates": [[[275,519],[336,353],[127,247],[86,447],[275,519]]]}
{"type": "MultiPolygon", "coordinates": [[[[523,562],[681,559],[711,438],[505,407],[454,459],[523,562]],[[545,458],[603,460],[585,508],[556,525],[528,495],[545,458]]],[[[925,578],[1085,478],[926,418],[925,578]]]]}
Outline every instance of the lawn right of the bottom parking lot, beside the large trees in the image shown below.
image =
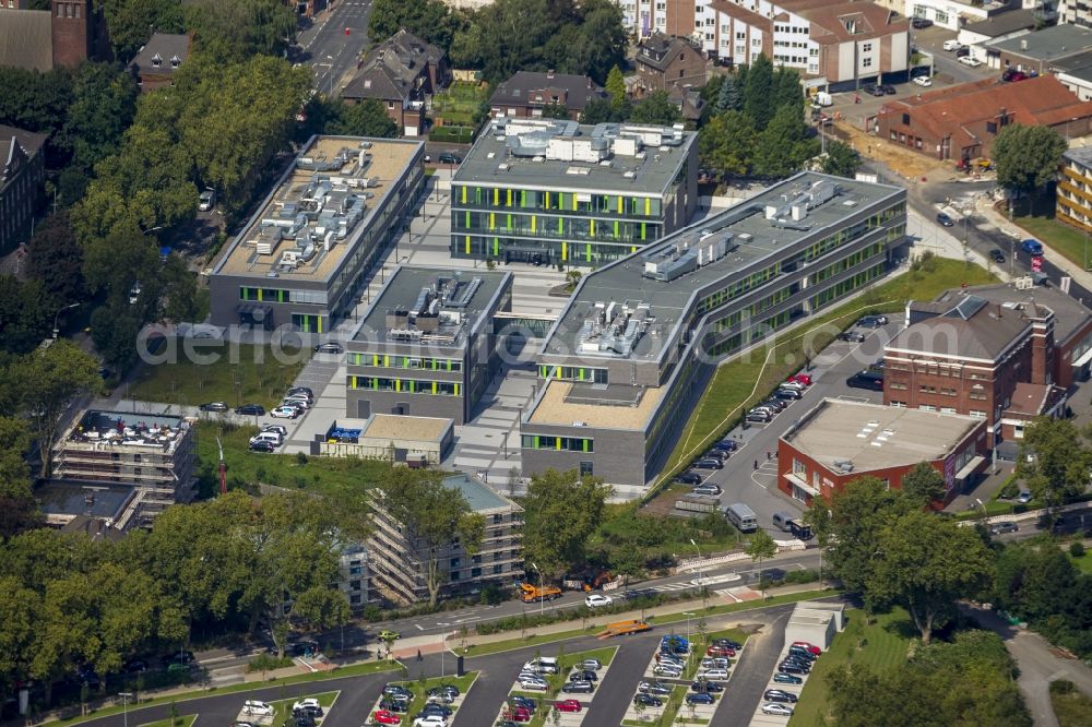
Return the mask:
{"type": "Polygon", "coordinates": [[[851,609],[845,612],[845,630],[834,637],[829,651],[816,662],[804,684],[796,713],[790,719],[792,727],[821,727],[827,713],[827,675],[834,667],[862,664],[877,671],[897,668],[906,663],[906,653],[917,631],[906,611],[892,609],[866,623],[865,612],[851,609]]]}

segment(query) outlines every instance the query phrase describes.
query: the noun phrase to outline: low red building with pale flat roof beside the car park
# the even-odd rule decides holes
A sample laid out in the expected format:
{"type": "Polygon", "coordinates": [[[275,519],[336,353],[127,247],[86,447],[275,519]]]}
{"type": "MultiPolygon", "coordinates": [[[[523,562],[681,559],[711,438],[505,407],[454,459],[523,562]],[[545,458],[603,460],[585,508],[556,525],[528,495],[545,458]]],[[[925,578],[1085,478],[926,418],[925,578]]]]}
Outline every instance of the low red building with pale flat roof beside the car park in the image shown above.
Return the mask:
{"type": "Polygon", "coordinates": [[[922,462],[945,478],[945,501],[951,500],[986,463],[985,422],[828,398],[778,441],[778,489],[807,505],[862,477],[899,489],[922,462]]]}

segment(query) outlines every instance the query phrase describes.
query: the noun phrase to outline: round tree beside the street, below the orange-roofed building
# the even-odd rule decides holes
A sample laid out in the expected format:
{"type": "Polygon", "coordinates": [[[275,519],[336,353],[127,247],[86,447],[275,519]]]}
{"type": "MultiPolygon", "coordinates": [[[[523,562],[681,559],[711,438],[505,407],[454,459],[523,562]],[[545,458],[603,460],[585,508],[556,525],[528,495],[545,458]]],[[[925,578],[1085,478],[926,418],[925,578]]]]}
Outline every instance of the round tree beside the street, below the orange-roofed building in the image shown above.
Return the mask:
{"type": "Polygon", "coordinates": [[[1066,140],[1051,127],[1005,127],[993,145],[997,183],[1014,192],[1043,189],[1057,177],[1066,146],[1066,140]]]}

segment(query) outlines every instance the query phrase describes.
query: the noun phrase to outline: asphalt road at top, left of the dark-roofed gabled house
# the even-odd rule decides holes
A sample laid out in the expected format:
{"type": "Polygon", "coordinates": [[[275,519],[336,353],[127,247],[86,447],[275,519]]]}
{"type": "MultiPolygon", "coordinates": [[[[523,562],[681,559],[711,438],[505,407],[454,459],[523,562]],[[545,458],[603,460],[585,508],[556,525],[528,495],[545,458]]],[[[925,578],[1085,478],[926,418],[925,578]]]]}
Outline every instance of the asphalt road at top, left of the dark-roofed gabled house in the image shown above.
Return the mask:
{"type": "Polygon", "coordinates": [[[316,90],[335,96],[356,70],[368,44],[370,13],[371,0],[335,0],[331,11],[299,32],[299,61],[311,67],[316,90]]]}

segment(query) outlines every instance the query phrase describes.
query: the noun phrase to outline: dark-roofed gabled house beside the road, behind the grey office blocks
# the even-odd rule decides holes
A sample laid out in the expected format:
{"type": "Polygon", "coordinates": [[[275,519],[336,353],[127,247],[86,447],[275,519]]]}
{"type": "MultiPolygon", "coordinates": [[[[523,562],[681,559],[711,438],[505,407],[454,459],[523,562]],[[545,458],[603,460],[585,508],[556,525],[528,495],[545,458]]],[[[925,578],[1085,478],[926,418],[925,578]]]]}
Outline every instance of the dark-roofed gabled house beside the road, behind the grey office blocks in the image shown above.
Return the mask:
{"type": "Polygon", "coordinates": [[[351,104],[378,99],[403,134],[416,136],[432,96],[449,80],[443,51],[402,28],[368,51],[341,97],[351,104]]]}

